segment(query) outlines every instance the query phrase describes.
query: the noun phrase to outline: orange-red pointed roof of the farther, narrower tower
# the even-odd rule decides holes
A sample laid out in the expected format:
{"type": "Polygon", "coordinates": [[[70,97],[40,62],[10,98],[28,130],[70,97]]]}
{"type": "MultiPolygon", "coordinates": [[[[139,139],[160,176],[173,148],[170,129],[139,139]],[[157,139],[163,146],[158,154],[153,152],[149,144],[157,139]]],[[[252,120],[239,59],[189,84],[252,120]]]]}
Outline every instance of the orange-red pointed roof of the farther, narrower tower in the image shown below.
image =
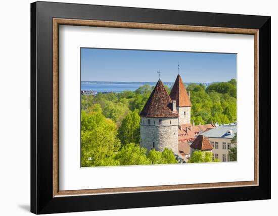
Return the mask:
{"type": "Polygon", "coordinates": [[[172,100],[176,100],[176,106],[191,106],[187,89],[184,87],[179,74],[170,92],[170,97],[172,100]]]}

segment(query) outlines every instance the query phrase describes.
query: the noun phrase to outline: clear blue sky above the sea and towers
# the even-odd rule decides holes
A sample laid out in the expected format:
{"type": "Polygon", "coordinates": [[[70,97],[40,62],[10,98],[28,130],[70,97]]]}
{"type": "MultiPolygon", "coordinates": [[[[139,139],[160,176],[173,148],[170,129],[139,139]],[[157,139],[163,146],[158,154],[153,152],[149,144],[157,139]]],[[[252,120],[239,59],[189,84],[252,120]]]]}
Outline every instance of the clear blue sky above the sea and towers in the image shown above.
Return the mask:
{"type": "Polygon", "coordinates": [[[237,55],[178,51],[81,48],[82,81],[218,82],[237,78],[237,55]]]}

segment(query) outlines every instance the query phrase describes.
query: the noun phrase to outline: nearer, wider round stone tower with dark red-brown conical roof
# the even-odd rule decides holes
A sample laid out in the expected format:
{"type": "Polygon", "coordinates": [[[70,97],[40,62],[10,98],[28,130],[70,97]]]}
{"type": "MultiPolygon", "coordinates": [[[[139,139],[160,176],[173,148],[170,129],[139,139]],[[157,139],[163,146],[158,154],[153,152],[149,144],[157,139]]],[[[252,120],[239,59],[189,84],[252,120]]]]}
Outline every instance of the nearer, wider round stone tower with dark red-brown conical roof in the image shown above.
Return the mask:
{"type": "Polygon", "coordinates": [[[164,148],[178,152],[178,113],[163,83],[159,79],[141,116],[141,146],[147,151],[164,148]]]}

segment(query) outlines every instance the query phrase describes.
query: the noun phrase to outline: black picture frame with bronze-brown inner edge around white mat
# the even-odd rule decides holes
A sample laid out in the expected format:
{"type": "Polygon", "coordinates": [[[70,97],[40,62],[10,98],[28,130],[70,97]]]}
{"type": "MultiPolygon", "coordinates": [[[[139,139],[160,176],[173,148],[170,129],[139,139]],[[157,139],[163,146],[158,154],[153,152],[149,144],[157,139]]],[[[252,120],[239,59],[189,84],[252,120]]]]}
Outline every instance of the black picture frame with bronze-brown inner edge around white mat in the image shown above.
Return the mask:
{"type": "Polygon", "coordinates": [[[270,17],[32,3],[31,212],[40,214],[269,199],[270,130],[265,128],[265,125],[270,125],[269,83],[270,17]],[[60,191],[59,25],[254,35],[254,181],[60,191]]]}

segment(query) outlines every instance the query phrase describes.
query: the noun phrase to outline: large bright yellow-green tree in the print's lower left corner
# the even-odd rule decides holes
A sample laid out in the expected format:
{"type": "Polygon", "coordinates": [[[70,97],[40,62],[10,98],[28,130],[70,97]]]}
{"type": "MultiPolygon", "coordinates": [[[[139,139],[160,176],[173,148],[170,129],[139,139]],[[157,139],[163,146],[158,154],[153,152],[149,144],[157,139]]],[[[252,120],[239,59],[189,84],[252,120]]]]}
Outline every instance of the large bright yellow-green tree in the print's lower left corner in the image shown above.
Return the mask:
{"type": "Polygon", "coordinates": [[[113,157],[120,147],[117,127],[96,108],[97,112],[81,111],[81,167],[115,166],[113,157]]]}

